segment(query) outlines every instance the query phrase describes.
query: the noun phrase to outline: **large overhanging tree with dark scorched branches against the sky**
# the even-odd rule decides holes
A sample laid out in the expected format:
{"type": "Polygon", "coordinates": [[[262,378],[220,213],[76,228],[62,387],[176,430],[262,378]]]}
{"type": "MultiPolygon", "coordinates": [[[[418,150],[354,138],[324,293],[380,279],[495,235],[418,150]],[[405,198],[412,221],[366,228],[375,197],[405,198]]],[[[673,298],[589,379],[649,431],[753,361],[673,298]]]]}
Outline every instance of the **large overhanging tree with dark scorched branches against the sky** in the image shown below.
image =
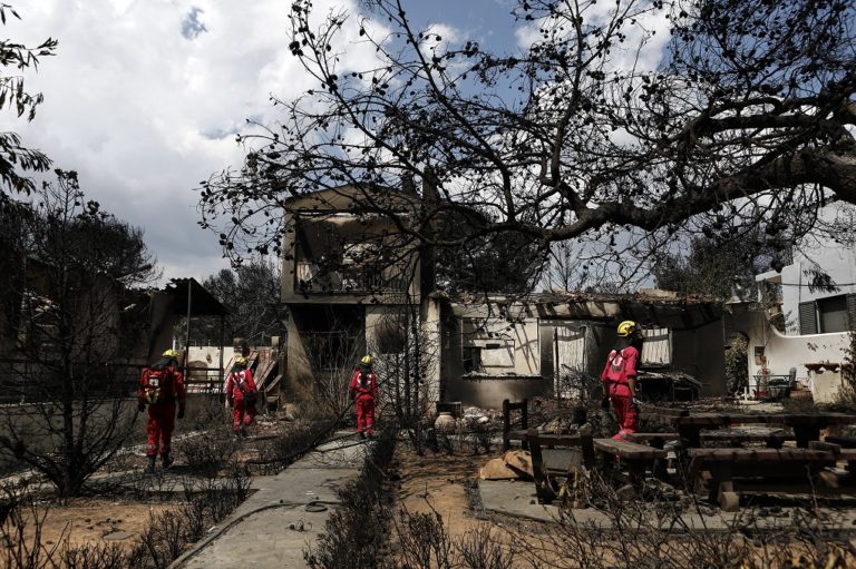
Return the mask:
{"type": "Polygon", "coordinates": [[[292,3],[290,48],[315,86],[274,96],[282,121],[240,136],[243,167],[201,188],[201,223],[232,256],[275,249],[284,202],[321,188],[352,185],[396,217],[376,188],[408,177],[438,196],[401,219],[421,243],[575,239],[583,264],[648,261],[687,232],[797,237],[825,200],[856,203],[847,0],[519,0],[534,39],[515,53],[418,28],[400,1],[361,6],[292,3]],[[348,57],[360,48],[371,65],[348,57]],[[450,216],[456,232],[427,230],[450,216]]]}

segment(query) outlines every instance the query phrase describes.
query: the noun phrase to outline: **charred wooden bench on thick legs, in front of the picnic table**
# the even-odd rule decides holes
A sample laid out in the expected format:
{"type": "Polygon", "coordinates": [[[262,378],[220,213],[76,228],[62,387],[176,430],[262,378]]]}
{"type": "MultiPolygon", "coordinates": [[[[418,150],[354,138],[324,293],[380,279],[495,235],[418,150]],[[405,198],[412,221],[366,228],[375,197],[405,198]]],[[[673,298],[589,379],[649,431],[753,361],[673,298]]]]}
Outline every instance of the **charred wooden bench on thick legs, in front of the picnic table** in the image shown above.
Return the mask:
{"type": "MultiPolygon", "coordinates": [[[[687,471],[690,488],[707,492],[711,502],[729,512],[740,507],[741,490],[775,492],[781,490],[782,481],[790,481],[801,490],[816,491],[808,477],[818,478],[827,487],[837,487],[833,473],[824,470],[836,464],[836,457],[828,450],[689,449],[688,452],[691,457],[687,471]],[[739,479],[760,480],[761,485],[740,485],[739,479]],[[768,483],[770,479],[778,480],[779,488],[768,483]]],[[[791,491],[794,488],[792,483],[788,485],[791,491]]]]}

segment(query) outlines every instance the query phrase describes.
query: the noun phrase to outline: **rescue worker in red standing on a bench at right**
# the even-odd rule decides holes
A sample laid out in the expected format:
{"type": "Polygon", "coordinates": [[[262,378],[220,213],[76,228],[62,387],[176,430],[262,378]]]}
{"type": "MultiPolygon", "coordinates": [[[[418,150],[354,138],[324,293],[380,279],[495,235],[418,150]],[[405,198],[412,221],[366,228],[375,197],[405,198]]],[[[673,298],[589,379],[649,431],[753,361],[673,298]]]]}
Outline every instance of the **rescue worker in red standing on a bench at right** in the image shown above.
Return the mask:
{"type": "Polygon", "coordinates": [[[636,363],[642,352],[644,336],[636,323],[625,320],[619,324],[619,341],[606,359],[601,373],[603,382],[604,410],[610,401],[619,423],[613,439],[625,440],[625,434],[639,431],[639,405],[636,401],[636,363]]]}

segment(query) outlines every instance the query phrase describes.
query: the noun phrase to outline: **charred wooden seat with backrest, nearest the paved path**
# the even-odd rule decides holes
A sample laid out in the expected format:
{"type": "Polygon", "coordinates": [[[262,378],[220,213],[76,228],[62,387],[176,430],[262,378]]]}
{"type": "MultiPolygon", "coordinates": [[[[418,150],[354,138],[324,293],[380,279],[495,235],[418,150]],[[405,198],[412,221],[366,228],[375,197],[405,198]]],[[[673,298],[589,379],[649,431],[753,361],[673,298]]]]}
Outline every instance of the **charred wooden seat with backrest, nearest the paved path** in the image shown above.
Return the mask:
{"type": "Polygon", "coordinates": [[[542,503],[552,502],[557,492],[551,475],[568,474],[577,468],[577,462],[588,469],[594,468],[594,444],[592,433],[581,431],[577,434],[542,434],[537,429],[528,429],[524,442],[528,443],[532,455],[532,472],[535,479],[535,492],[542,503]],[[552,447],[546,450],[543,447],[552,447]],[[571,448],[578,452],[568,453],[555,447],[571,448]]]}

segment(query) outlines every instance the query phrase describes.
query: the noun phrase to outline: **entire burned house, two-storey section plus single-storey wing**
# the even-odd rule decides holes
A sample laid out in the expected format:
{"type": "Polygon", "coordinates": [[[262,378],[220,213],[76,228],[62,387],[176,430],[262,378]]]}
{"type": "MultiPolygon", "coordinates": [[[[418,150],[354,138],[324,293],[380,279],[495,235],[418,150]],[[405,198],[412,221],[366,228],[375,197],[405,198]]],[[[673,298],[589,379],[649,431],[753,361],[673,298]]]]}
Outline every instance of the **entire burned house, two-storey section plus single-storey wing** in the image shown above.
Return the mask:
{"type": "Polygon", "coordinates": [[[364,352],[396,396],[408,379],[424,401],[497,408],[504,399],[578,396],[628,318],[648,336],[642,383],[651,399],[724,394],[717,302],[662,292],[453,297],[434,290],[432,255],[407,226],[421,199],[407,185],[342,186],[285,204],[286,396],[334,391],[364,352]]]}

